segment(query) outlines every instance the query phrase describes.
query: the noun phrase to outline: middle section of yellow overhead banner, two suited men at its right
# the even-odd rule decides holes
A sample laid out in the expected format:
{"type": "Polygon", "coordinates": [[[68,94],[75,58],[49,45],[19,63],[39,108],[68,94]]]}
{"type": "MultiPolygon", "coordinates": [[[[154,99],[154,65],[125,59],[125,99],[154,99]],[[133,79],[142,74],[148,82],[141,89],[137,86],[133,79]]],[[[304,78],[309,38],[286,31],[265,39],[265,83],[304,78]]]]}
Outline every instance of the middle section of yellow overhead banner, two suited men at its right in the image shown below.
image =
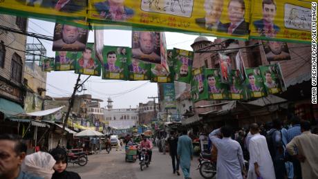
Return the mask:
{"type": "Polygon", "coordinates": [[[152,30],[199,32],[248,38],[250,1],[223,0],[91,0],[88,19],[152,30]],[[231,23],[235,26],[231,26],[231,23]]]}

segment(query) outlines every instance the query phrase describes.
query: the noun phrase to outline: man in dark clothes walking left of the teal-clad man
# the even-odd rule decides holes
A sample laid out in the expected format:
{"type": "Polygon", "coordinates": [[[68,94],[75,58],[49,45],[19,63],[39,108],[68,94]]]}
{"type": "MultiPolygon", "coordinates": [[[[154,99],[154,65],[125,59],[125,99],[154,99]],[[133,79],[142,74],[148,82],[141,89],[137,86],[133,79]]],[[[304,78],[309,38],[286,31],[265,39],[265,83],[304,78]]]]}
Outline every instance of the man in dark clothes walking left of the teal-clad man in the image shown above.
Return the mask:
{"type": "Polygon", "coordinates": [[[178,156],[177,155],[178,138],[176,137],[176,134],[174,133],[174,131],[171,131],[170,133],[170,137],[168,138],[168,144],[169,144],[169,154],[172,160],[172,169],[174,169],[174,173],[177,173],[178,176],[180,176],[180,173],[179,173],[180,160],[177,157],[178,156]],[[176,160],[177,160],[177,166],[176,166],[176,160]]]}

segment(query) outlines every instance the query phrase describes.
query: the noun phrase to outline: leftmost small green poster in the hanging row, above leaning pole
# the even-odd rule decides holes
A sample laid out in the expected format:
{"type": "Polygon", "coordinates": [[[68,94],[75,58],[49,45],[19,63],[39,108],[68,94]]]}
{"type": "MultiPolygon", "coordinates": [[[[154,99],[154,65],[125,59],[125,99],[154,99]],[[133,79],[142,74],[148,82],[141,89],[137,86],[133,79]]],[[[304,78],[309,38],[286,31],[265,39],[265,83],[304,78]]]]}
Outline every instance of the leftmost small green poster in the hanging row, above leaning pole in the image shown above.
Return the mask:
{"type": "Polygon", "coordinates": [[[55,70],[75,70],[77,52],[56,51],[55,52],[55,70]]]}

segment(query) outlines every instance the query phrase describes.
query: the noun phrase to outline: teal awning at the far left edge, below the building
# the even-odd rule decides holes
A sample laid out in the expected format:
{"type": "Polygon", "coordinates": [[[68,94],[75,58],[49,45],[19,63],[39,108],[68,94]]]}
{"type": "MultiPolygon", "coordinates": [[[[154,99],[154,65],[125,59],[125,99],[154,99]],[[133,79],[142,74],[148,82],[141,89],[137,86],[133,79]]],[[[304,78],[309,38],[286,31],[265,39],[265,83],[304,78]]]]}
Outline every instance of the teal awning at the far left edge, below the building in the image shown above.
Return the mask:
{"type": "Polygon", "coordinates": [[[0,112],[4,113],[4,117],[10,117],[19,113],[24,113],[24,109],[17,103],[0,98],[0,112]]]}

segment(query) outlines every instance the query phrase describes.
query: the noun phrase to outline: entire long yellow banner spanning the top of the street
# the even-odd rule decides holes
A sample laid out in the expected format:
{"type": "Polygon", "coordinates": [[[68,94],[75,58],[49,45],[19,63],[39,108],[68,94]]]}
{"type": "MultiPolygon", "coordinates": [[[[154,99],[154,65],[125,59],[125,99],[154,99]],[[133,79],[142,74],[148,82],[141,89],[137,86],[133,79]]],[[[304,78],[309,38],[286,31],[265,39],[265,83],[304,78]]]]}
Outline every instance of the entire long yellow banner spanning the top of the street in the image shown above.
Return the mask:
{"type": "Polygon", "coordinates": [[[311,37],[311,3],[305,0],[0,0],[0,10],[96,29],[175,31],[307,44],[311,37]]]}

